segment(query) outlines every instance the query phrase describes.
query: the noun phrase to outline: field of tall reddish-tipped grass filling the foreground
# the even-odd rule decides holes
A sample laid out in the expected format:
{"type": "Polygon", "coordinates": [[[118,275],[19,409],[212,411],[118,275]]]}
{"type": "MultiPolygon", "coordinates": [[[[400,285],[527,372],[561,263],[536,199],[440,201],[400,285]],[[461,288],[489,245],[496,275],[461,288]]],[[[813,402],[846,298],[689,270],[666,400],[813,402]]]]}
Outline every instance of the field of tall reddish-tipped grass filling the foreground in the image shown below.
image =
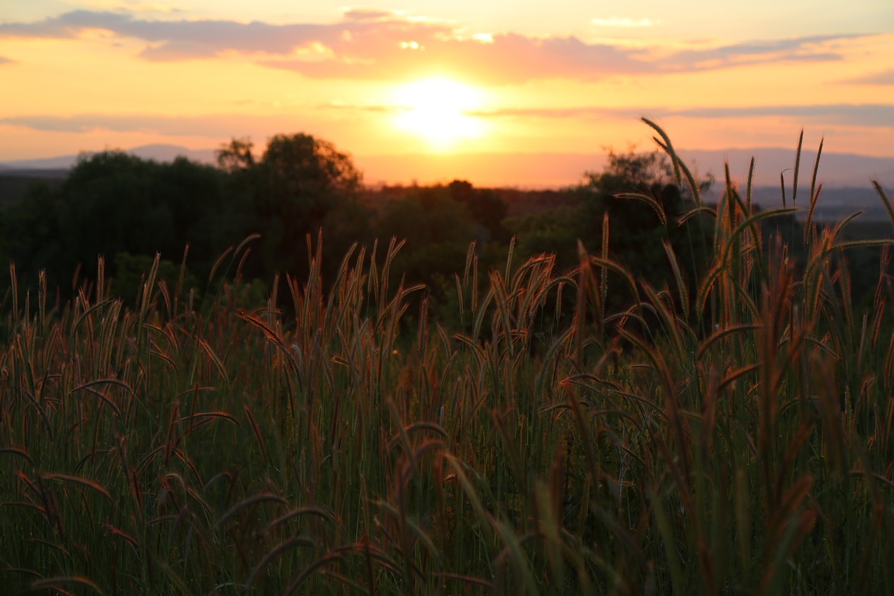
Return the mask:
{"type": "Polygon", "coordinates": [[[392,284],[396,241],[351,249],[325,292],[308,239],[308,278],[274,280],[266,304],[214,280],[195,304],[156,283],[156,259],[133,311],[102,273],[54,309],[43,283],[19,295],[11,268],[4,585],[894,592],[889,278],[858,310],[847,252],[866,243],[844,222],[808,219],[796,270],[759,226],[791,209],[756,212],[729,176],[703,205],[647,124],[696,199],[684,217],[716,222],[691,239],[713,243],[696,287],[670,245],[672,287],[634,279],[607,245],[567,275],[511,250],[479,271],[473,245],[454,329],[423,286],[392,284]],[[615,279],[634,301],[610,313],[615,279]]]}

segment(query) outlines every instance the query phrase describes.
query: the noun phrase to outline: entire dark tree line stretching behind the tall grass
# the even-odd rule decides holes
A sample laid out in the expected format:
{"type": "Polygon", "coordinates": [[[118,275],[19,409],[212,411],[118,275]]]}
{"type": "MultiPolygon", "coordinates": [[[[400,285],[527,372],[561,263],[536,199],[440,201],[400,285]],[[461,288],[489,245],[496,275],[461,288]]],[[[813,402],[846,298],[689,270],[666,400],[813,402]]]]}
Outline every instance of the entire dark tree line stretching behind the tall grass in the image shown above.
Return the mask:
{"type": "MultiPolygon", "coordinates": [[[[269,284],[288,273],[301,280],[308,236],[316,242],[322,230],[326,281],[352,243],[371,247],[396,237],[407,245],[395,277],[425,283],[435,302],[454,292],[452,276],[473,241],[483,268],[502,266],[514,235],[517,262],[550,252],[570,269],[578,264],[578,239],[598,255],[608,232],[611,259],[655,286],[671,280],[664,243],[689,283],[708,260],[711,226],[699,217],[679,223],[691,200],[656,154],[611,154],[605,171],[587,173],[561,196],[573,200],[507,217],[498,192],[461,180],[373,191],[363,187],[350,156],[307,134],[276,135],[260,154],[249,140],[231,140],[217,151],[215,166],[106,151],[80,158],[61,185],[36,185],[0,210],[0,258],[14,261],[21,285],[35,285],[45,269],[48,287],[64,298],[96,277],[97,255],[104,255],[105,275],[127,298],[156,252],[164,275],[176,277],[185,258],[188,281],[202,280],[228,247],[260,234],[242,262],[243,278],[269,284]]],[[[628,299],[613,293],[612,308],[628,299]]]]}

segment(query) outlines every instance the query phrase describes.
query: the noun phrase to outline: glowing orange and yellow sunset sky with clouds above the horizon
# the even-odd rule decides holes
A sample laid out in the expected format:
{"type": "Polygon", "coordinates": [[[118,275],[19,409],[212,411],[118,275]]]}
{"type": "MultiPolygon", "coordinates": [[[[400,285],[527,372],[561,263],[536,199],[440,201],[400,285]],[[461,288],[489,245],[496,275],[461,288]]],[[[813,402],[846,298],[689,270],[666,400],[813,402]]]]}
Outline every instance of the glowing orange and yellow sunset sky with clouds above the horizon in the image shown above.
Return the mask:
{"type": "Polygon", "coordinates": [[[894,2],[6,0],[0,161],[308,132],[355,156],[894,157],[894,2]]]}

